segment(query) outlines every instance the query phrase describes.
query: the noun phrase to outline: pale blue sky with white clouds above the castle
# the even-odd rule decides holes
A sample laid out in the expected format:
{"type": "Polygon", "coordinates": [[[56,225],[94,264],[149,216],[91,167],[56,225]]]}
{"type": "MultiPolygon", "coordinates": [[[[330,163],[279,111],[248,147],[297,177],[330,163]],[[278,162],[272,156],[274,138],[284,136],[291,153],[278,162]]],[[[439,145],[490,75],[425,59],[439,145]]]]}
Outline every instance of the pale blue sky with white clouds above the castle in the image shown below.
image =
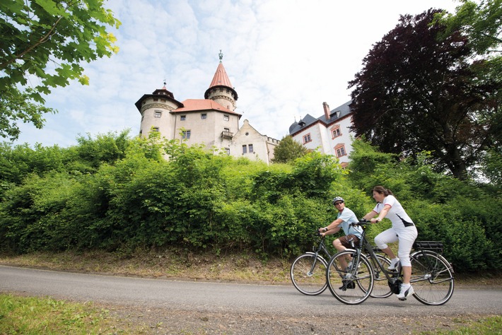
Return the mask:
{"type": "Polygon", "coordinates": [[[238,93],[237,109],[262,135],[282,139],[305,114],[320,117],[350,100],[348,82],[363,58],[399,23],[428,8],[450,13],[455,0],[110,0],[122,25],[109,31],[119,52],[83,64],[88,86],[56,88],[45,127],[20,124],[15,144],[77,144],[80,136],[129,129],[139,134],[134,103],[166,88],[176,100],[204,99],[219,64],[238,93]]]}

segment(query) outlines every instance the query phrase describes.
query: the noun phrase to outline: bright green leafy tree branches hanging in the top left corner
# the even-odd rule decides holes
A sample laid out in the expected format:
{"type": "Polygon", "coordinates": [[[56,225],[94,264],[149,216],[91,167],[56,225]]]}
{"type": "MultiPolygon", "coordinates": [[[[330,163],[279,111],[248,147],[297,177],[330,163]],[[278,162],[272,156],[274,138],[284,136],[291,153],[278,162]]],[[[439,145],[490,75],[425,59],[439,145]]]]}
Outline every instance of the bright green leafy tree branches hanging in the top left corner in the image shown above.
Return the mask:
{"type": "Polygon", "coordinates": [[[77,79],[81,63],[118,51],[106,26],[120,25],[104,0],[3,0],[0,2],[0,135],[17,139],[16,121],[43,127],[42,95],[77,79]],[[32,86],[33,83],[38,83],[32,86]]]}

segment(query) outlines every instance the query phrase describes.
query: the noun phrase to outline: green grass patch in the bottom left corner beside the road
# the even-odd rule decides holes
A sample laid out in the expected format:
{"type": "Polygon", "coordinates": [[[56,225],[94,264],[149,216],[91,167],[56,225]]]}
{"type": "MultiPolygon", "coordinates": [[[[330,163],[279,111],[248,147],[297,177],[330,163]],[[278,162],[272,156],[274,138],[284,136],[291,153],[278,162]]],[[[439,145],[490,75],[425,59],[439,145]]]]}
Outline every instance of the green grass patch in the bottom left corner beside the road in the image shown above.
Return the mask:
{"type": "Polygon", "coordinates": [[[0,334],[141,334],[91,303],[0,295],[0,334]],[[117,326],[119,325],[120,326],[117,326]]]}

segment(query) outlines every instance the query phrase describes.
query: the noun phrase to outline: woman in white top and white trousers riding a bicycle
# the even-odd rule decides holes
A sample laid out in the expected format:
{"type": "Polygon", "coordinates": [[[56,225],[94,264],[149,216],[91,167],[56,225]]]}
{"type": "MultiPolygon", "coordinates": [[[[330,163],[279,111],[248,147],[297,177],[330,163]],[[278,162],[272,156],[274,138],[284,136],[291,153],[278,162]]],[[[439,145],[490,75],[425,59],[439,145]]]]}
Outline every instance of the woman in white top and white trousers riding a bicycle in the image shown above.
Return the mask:
{"type": "Polygon", "coordinates": [[[387,217],[392,222],[392,228],[389,228],[375,237],[375,244],[382,249],[385,254],[391,259],[389,270],[395,270],[399,261],[402,266],[403,283],[397,298],[406,300],[407,296],[414,293],[414,289],[409,283],[411,278],[411,261],[409,260],[409,252],[413,247],[413,242],[418,235],[415,224],[411,221],[408,214],[404,211],[399,201],[390,192],[390,189],[385,189],[382,186],[373,188],[373,199],[377,201],[375,208],[364,218],[370,220],[371,223],[378,223],[387,217]],[[378,214],[377,218],[374,218],[378,214]],[[399,249],[395,256],[392,249],[387,243],[398,242],[399,249]]]}

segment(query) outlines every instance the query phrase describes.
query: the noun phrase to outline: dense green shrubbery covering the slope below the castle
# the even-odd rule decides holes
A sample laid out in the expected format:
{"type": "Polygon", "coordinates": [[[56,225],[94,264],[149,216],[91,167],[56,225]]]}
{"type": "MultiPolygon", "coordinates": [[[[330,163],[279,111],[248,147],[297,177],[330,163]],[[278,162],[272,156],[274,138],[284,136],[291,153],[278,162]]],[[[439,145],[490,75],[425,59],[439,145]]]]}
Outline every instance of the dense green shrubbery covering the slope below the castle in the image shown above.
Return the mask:
{"type": "MultiPolygon", "coordinates": [[[[354,148],[348,173],[315,152],[265,165],[127,133],[66,149],[4,144],[1,248],[130,253],[176,246],[291,257],[333,220],[333,196],[363,216],[374,206],[370,189],[383,184],[407,208],[420,240],[445,242],[457,271],[501,267],[500,193],[432,172],[426,155],[410,165],[363,141],[354,148]]],[[[388,225],[373,225],[370,236],[388,225]]]]}

